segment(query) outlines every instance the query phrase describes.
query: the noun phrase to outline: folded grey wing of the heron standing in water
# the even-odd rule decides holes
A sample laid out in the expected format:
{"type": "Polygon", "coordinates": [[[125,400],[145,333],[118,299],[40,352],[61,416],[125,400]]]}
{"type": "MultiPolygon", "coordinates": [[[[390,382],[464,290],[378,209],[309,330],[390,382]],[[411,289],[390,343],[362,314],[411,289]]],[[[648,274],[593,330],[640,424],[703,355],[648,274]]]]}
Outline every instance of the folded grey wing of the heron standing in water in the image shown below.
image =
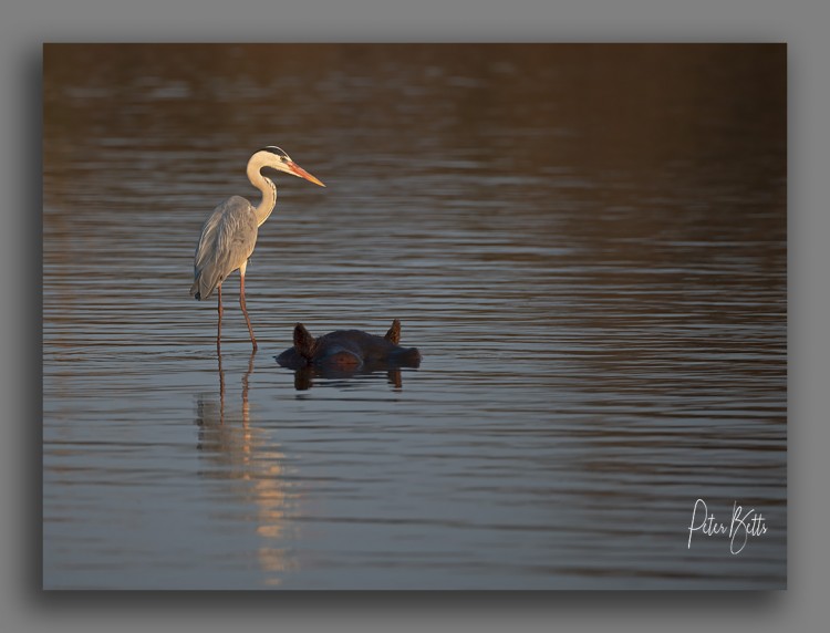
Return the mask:
{"type": "Polygon", "coordinates": [[[251,204],[240,196],[219,204],[201,227],[190,294],[209,298],[228,274],[246,262],[256,243],[257,216],[251,204]]]}

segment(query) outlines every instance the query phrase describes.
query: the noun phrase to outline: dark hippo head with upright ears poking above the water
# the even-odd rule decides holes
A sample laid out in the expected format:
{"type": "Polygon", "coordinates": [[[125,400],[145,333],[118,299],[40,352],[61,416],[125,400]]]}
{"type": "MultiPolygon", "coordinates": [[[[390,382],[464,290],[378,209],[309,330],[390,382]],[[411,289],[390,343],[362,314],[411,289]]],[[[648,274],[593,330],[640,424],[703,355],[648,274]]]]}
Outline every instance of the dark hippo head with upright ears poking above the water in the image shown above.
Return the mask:
{"type": "Polygon", "coordinates": [[[421,352],[415,347],[402,347],[400,342],[401,322],[397,319],[384,336],[361,330],[336,330],[315,339],[302,323],[298,323],[293,347],[277,356],[277,362],[291,370],[315,367],[335,372],[417,367],[421,352]]]}

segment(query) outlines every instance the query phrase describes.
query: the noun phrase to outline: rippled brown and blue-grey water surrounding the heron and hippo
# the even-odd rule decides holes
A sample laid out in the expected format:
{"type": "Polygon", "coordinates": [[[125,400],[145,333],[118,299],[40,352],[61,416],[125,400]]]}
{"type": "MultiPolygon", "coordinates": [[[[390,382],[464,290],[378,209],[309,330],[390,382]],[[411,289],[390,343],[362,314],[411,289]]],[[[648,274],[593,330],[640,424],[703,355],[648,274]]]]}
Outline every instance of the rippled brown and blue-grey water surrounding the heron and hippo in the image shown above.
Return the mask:
{"type": "Polygon", "coordinates": [[[43,168],[45,587],[786,585],[784,48],[48,46],[43,168]],[[271,144],[328,187],[218,359],[271,144]],[[274,361],[393,318],[398,384],[274,361]]]}

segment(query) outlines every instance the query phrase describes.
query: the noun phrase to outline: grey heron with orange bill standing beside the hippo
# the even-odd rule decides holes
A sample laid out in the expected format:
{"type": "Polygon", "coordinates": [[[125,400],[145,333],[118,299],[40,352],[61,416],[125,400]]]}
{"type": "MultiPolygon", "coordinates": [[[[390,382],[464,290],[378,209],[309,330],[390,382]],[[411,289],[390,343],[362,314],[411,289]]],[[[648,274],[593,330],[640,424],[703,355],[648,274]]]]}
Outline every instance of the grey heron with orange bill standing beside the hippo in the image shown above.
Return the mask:
{"type": "Polygon", "coordinates": [[[241,196],[231,196],[219,203],[201,227],[201,237],[194,257],[194,282],[190,294],[197,300],[208,299],[214,290],[218,293],[219,324],[216,331],[216,346],[221,345],[222,331],[222,281],[239,270],[239,305],[245,314],[248,333],[251,336],[253,351],[257,339],[253,335],[251,320],[245,305],[245,269],[248,258],[257,245],[257,231],[273,211],[277,205],[277,186],[262,175],[262,169],[270,167],[292,176],[325,187],[314,176],[294,163],[279,147],[268,146],[259,149],[248,160],[248,179],[262,191],[262,200],[255,207],[241,196]]]}

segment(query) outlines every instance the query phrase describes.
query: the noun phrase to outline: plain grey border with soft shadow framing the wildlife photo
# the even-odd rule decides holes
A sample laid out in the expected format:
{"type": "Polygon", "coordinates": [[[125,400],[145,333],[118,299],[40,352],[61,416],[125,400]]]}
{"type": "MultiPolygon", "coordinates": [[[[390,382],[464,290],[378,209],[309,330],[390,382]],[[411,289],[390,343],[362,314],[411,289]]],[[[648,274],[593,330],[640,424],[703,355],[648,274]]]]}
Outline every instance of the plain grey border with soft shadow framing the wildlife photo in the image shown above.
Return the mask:
{"type": "MultiPolygon", "coordinates": [[[[830,505],[827,322],[822,287],[830,235],[826,179],[830,112],[820,2],[751,0],[32,0],[3,9],[0,252],[4,442],[0,454],[3,561],[0,622],[8,631],[782,631],[827,621],[830,505]],[[788,590],[777,592],[43,592],[41,544],[41,46],[44,42],[786,42],[788,44],[788,590]],[[820,114],[821,113],[821,114],[820,114]],[[823,264],[823,266],[822,266],[823,264]],[[824,353],[822,353],[824,352],[824,353]],[[822,388],[824,387],[824,388],[822,388]],[[823,397],[822,397],[823,396],[823,397]]],[[[826,277],[826,276],[824,276],[826,277]]],[[[824,282],[826,283],[826,282],[824,282]]]]}

